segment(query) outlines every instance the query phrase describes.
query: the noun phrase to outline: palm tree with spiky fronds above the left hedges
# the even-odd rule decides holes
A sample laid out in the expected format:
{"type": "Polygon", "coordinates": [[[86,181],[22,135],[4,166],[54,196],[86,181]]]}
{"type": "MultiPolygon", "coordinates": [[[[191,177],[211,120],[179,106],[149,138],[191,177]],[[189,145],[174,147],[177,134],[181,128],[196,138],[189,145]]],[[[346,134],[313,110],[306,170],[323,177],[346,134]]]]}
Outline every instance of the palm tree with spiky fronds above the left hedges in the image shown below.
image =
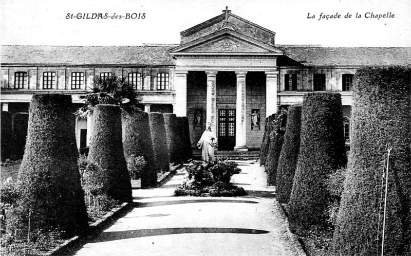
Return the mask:
{"type": "Polygon", "coordinates": [[[104,78],[95,76],[90,89],[85,95],[79,97],[84,100],[84,106],[76,112],[77,116],[86,118],[100,103],[119,105],[123,114],[139,110],[141,96],[127,78],[116,75],[104,78]]]}

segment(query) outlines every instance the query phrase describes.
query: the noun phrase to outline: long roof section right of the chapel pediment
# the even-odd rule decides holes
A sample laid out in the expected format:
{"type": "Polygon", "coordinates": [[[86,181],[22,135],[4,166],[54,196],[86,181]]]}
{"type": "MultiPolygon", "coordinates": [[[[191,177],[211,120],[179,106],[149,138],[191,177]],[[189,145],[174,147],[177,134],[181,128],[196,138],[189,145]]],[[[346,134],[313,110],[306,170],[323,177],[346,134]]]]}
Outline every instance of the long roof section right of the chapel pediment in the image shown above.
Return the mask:
{"type": "Polygon", "coordinates": [[[274,45],[306,66],[410,65],[411,47],[310,47],[274,45]]]}

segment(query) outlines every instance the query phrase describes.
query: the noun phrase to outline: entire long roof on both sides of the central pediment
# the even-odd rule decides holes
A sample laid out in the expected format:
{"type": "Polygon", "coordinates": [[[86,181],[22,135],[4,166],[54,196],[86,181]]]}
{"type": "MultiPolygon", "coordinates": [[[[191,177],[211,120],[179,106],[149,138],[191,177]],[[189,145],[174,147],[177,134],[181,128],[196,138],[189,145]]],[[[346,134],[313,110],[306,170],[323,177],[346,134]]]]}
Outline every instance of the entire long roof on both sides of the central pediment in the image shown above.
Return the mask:
{"type": "MultiPolygon", "coordinates": [[[[169,49],[143,46],[2,46],[4,64],[175,65],[169,49]]],[[[411,47],[319,47],[274,45],[305,66],[410,65],[411,47]]]]}

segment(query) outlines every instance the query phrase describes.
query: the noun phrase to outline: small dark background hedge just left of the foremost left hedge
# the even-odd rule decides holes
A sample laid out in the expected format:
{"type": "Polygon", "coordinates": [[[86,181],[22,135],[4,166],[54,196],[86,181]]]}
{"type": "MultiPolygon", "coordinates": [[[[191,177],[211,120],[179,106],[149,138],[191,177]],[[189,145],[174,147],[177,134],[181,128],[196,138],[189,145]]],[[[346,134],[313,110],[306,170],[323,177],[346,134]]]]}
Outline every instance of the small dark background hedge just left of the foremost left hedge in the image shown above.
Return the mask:
{"type": "Polygon", "coordinates": [[[15,141],[15,154],[17,159],[22,159],[24,147],[26,146],[27,127],[29,121],[28,113],[17,113],[13,119],[13,133],[15,141]]]}

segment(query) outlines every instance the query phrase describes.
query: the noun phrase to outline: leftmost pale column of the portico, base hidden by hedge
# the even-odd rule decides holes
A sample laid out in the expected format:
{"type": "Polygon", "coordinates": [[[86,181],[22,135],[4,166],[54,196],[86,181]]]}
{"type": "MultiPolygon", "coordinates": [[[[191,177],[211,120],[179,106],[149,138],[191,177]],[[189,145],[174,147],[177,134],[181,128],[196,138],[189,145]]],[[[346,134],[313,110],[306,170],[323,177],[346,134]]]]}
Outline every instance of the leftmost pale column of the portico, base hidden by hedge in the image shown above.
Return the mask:
{"type": "Polygon", "coordinates": [[[173,112],[179,117],[187,116],[187,73],[188,71],[176,71],[174,74],[176,104],[173,112]]]}

